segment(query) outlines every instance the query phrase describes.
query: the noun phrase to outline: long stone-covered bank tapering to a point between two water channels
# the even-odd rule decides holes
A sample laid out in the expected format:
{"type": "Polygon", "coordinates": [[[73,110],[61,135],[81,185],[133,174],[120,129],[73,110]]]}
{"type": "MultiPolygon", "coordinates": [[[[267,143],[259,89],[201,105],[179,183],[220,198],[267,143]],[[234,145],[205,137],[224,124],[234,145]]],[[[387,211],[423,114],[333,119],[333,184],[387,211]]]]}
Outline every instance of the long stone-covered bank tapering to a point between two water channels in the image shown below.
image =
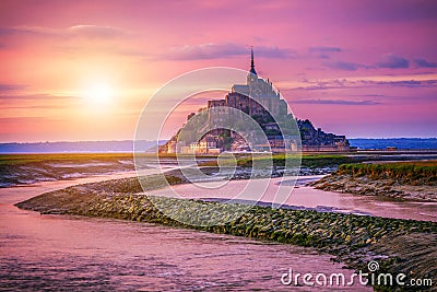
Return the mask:
{"type": "MultiPolygon", "coordinates": [[[[161,182],[158,176],[147,179],[151,179],[151,188],[156,186],[156,182],[161,182]]],[[[172,183],[181,182],[174,178],[172,183]]],[[[141,187],[134,178],[116,179],[43,194],[16,206],[40,213],[115,218],[193,227],[166,218],[145,196],[132,195],[139,189],[141,187]]],[[[182,212],[182,217],[197,215],[197,212],[190,210],[191,200],[160,200],[182,212]]],[[[217,209],[221,205],[223,208],[229,208],[213,201],[200,203],[205,209],[217,209]]],[[[314,247],[335,256],[338,261],[345,262],[351,268],[363,271],[366,270],[367,262],[375,259],[379,261],[380,272],[403,272],[408,277],[429,278],[436,281],[437,223],[433,222],[253,207],[239,219],[224,225],[193,229],[314,247]],[[397,244],[393,245],[392,241],[397,244]]]]}

